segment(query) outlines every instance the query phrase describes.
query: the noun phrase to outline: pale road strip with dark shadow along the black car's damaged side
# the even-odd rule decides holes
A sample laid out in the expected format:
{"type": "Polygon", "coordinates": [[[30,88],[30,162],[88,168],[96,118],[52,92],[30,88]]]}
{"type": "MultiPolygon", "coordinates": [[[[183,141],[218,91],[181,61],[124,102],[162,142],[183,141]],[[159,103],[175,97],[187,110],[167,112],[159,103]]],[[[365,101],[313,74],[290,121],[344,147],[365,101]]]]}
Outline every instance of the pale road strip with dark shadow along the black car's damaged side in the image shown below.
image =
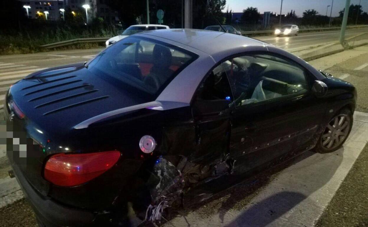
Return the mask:
{"type": "Polygon", "coordinates": [[[303,153],[244,209],[216,210],[208,217],[193,211],[164,226],[314,226],[367,141],[368,114],[356,111],[343,148],[328,154],[303,153]]]}

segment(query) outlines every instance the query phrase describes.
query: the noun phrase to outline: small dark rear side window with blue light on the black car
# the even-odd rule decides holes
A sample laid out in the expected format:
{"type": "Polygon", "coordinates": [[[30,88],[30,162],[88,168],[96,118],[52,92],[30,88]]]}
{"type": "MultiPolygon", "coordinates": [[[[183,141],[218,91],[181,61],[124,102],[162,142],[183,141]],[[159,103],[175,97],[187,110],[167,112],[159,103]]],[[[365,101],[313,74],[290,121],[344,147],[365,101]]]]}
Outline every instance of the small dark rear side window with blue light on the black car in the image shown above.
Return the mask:
{"type": "Polygon", "coordinates": [[[199,85],[194,100],[194,114],[214,114],[229,108],[233,100],[223,64],[217,66],[199,85]]]}

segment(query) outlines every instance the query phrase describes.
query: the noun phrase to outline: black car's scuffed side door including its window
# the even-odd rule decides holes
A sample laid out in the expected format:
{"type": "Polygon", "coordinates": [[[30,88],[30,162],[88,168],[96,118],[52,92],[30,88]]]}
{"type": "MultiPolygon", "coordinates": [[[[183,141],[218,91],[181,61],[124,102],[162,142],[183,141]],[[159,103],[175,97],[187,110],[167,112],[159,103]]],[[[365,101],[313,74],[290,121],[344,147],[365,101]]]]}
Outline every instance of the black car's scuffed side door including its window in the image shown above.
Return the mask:
{"type": "Polygon", "coordinates": [[[234,94],[230,157],[235,173],[281,162],[314,146],[325,107],[311,93],[314,76],[275,53],[227,60],[234,94]]]}

